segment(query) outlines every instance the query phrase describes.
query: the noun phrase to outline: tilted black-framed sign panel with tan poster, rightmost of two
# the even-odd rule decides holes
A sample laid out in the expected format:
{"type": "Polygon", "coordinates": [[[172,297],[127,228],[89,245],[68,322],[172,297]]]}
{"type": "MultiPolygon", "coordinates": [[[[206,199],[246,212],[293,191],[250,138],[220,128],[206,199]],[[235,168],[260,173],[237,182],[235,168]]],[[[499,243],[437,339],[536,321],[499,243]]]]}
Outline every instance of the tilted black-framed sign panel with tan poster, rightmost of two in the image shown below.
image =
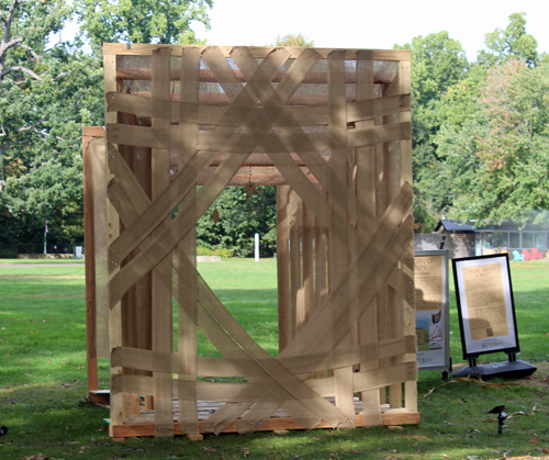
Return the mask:
{"type": "Polygon", "coordinates": [[[463,359],[518,352],[507,255],[452,259],[463,359]]]}

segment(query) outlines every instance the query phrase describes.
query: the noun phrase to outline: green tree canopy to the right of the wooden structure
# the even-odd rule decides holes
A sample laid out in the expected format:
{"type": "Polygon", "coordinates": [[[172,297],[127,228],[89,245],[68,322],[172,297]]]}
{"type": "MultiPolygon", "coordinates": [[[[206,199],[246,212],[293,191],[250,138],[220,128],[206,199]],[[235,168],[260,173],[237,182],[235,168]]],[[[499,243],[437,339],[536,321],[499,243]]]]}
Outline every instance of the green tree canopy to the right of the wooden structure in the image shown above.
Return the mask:
{"type": "MultiPolygon", "coordinates": [[[[467,63],[446,32],[412,51],[414,217],[526,223],[547,210],[547,64],[524,13],[467,63]]],[[[396,46],[399,47],[399,46],[396,46]]]]}

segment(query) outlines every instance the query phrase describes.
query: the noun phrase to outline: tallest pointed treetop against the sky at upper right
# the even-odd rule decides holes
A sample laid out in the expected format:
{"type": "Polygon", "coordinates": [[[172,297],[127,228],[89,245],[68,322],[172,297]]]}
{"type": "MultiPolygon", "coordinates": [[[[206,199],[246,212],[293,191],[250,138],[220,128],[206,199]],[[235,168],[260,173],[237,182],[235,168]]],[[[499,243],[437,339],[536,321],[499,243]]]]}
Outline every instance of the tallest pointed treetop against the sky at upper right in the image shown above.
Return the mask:
{"type": "Polygon", "coordinates": [[[479,52],[478,60],[486,66],[502,66],[509,58],[524,60],[529,67],[540,61],[536,48],[538,42],[526,33],[526,13],[509,15],[509,24],[505,30],[496,29],[485,35],[488,51],[479,52]]]}

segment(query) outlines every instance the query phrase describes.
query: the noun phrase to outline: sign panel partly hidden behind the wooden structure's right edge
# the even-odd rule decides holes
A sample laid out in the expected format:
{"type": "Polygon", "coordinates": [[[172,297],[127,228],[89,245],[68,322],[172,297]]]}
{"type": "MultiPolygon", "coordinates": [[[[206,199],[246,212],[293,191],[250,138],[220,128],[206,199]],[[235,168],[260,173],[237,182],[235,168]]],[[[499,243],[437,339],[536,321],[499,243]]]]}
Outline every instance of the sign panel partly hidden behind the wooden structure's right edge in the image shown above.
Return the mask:
{"type": "Polygon", "coordinates": [[[450,369],[448,250],[416,251],[414,266],[418,368],[450,369]]]}

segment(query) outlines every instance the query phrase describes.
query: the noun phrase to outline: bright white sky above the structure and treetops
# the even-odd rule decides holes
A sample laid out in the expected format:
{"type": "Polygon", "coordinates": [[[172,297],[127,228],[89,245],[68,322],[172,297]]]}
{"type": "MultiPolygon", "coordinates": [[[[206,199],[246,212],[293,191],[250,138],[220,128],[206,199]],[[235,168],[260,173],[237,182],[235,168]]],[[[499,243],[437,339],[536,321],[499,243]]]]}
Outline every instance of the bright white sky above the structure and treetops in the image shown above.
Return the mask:
{"type": "Polygon", "coordinates": [[[475,60],[484,35],[505,29],[515,12],[526,13],[526,32],[538,41],[538,52],[549,52],[547,0],[214,0],[211,30],[194,30],[219,46],[273,45],[278,35],[301,33],[316,47],[369,49],[447,31],[475,60]]]}

